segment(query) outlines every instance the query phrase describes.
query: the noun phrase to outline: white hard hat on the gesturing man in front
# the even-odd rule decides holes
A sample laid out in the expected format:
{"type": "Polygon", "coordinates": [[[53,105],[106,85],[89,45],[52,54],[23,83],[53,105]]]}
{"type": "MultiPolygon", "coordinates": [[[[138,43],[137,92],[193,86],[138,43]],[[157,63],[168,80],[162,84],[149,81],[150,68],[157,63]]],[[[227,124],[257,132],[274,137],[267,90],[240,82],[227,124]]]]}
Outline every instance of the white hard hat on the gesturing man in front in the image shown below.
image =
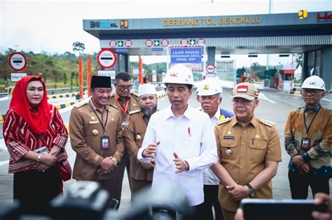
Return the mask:
{"type": "Polygon", "coordinates": [[[183,64],[172,66],[166,73],[164,83],[193,84],[193,73],[183,64]]]}

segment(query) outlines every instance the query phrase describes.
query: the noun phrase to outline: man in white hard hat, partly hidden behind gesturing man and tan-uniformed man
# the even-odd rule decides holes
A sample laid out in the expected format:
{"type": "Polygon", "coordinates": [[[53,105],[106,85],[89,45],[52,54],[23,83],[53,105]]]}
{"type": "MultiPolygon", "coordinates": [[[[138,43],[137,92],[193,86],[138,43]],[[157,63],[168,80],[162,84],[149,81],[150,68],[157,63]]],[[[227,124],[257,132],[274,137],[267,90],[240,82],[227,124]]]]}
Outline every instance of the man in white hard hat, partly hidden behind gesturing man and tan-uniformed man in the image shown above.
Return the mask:
{"type": "MultiPolygon", "coordinates": [[[[206,78],[202,81],[202,85],[198,87],[198,100],[202,110],[209,115],[212,126],[221,119],[233,117],[233,112],[219,108],[223,98],[223,88],[219,78],[206,78]]],[[[204,169],[204,208],[205,219],[223,219],[221,206],[218,200],[219,179],[214,175],[210,168],[204,169]],[[214,208],[214,217],[212,213],[214,208]]]]}

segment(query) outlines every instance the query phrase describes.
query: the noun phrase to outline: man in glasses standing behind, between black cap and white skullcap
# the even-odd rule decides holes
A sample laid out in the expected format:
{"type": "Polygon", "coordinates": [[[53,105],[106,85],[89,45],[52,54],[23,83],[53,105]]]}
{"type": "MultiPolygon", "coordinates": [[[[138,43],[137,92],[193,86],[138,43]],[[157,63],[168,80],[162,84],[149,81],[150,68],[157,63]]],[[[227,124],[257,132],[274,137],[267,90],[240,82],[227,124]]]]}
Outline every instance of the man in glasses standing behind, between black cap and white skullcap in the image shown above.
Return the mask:
{"type": "MultiPolygon", "coordinates": [[[[132,82],[130,81],[130,74],[126,72],[120,72],[116,74],[116,82],[114,83],[116,91],[112,94],[109,103],[117,106],[120,111],[120,117],[122,122],[122,129],[125,129],[129,123],[129,112],[132,110],[139,110],[138,96],[130,92],[132,89],[132,82]]],[[[122,181],[123,175],[125,173],[125,168],[127,169],[127,176],[130,186],[130,158],[127,153],[127,147],[125,147],[125,152],[123,153],[123,158],[119,164],[119,175],[118,178],[121,182],[118,191],[122,191],[122,181]]]]}

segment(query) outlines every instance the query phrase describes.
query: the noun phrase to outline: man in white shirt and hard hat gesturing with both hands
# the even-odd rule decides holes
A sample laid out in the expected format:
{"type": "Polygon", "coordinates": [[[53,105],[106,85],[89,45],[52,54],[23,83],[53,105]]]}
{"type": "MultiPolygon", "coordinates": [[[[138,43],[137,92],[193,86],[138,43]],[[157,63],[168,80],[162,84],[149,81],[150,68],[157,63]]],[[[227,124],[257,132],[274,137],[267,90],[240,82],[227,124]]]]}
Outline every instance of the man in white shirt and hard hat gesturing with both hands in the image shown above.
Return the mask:
{"type": "Polygon", "coordinates": [[[152,189],[165,182],[177,184],[195,209],[193,219],[205,219],[202,172],[218,160],[212,124],[207,114],[188,105],[191,70],[173,66],[164,82],[171,106],[151,116],[137,159],[149,162],[155,157],[152,189]]]}

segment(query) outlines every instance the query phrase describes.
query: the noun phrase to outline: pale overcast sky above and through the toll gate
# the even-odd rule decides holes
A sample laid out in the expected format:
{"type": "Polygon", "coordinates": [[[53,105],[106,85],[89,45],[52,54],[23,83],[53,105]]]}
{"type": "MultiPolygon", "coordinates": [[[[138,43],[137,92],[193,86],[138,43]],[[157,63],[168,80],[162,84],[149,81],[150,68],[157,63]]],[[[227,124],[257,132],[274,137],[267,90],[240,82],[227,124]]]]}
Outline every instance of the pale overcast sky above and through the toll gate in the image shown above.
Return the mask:
{"type": "MultiPolygon", "coordinates": [[[[83,19],[249,15],[269,10],[297,13],[300,9],[332,10],[332,0],[0,0],[0,52],[8,47],[50,54],[73,52],[76,41],[85,44],[87,53],[99,52],[99,40],[83,31],[83,19]]],[[[270,57],[272,65],[280,62],[277,54],[270,57]]],[[[249,66],[247,55],[237,58],[243,60],[237,66],[249,66]]],[[[146,64],[159,61],[158,57],[143,60],[146,64]]],[[[258,56],[251,62],[264,60],[266,56],[258,56]]],[[[281,61],[290,63],[291,58],[281,61]]]]}

